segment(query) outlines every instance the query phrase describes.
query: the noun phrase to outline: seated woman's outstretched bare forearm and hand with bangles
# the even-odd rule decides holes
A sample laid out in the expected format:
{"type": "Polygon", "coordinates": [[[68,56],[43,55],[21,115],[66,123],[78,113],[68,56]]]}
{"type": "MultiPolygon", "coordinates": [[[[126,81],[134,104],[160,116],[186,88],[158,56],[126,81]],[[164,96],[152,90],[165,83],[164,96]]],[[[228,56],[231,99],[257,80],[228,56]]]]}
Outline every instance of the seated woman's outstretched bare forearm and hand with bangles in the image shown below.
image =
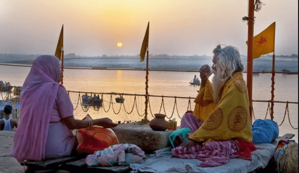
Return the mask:
{"type": "Polygon", "coordinates": [[[100,125],[104,128],[112,128],[118,125],[117,123],[113,123],[112,120],[110,120],[109,118],[91,120],[92,124],[87,120],[76,120],[74,116],[68,116],[66,118],[63,118],[62,120],[70,130],[87,128],[91,125],[100,125]]]}

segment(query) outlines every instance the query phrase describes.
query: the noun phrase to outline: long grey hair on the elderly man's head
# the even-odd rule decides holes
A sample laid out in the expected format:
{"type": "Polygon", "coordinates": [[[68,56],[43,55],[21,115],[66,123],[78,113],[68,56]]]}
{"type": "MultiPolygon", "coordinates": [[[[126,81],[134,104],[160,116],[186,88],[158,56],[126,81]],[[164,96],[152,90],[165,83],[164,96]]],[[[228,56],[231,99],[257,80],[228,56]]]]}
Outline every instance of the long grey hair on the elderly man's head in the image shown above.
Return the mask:
{"type": "Polygon", "coordinates": [[[244,64],[241,60],[238,48],[233,46],[226,46],[221,48],[218,45],[213,53],[216,55],[216,66],[221,70],[221,81],[223,83],[227,82],[230,77],[233,77],[234,73],[237,71],[244,70],[244,64]]]}

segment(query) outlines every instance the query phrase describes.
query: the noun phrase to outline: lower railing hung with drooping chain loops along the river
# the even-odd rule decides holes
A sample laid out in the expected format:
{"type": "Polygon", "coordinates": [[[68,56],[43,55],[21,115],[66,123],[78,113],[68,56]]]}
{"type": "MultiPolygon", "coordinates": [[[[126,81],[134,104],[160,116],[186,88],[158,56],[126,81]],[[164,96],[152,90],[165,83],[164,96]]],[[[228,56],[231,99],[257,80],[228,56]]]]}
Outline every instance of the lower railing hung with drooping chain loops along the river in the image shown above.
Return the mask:
{"type": "MultiPolygon", "coordinates": [[[[17,86],[3,87],[3,86],[0,85],[0,91],[1,91],[1,93],[0,93],[1,97],[0,98],[2,98],[2,101],[4,103],[9,102],[9,104],[13,104],[14,107],[16,107],[16,103],[19,102],[19,99],[20,99],[20,90],[21,90],[21,87],[17,87],[17,86]],[[4,89],[4,88],[7,88],[7,89],[4,89]],[[13,90],[13,91],[11,91],[11,90],[13,90]]],[[[184,112],[187,112],[189,110],[192,111],[191,99],[195,99],[195,98],[192,98],[192,97],[177,97],[177,96],[163,96],[163,95],[160,96],[160,95],[150,95],[150,94],[146,95],[146,94],[127,94],[127,93],[94,93],[94,92],[81,92],[81,91],[67,91],[67,92],[68,92],[68,95],[70,95],[70,93],[78,93],[78,96],[77,96],[78,98],[73,97],[74,110],[81,107],[83,112],[87,112],[90,108],[92,108],[94,111],[99,111],[102,108],[104,110],[104,112],[109,112],[110,108],[112,108],[112,111],[113,111],[114,114],[119,114],[120,111],[121,111],[121,108],[123,108],[125,114],[129,115],[134,111],[134,108],[135,108],[138,116],[140,116],[140,117],[144,117],[145,112],[143,112],[143,113],[140,112],[141,108],[138,108],[137,97],[142,96],[142,97],[148,97],[149,98],[148,102],[149,102],[150,114],[151,114],[152,117],[154,117],[154,114],[153,114],[153,111],[152,111],[151,99],[150,98],[160,97],[161,98],[161,104],[159,104],[160,105],[159,113],[161,113],[161,111],[162,111],[168,119],[172,118],[175,114],[177,114],[177,116],[179,118],[182,118],[179,114],[179,111],[178,111],[177,98],[188,99],[187,109],[184,112]],[[97,105],[94,104],[94,102],[84,103],[83,99],[82,99],[82,96],[84,95],[83,93],[90,94],[90,95],[100,94],[101,95],[101,98],[100,98],[101,103],[97,104],[97,105]],[[107,96],[108,100],[104,99],[104,95],[107,96]],[[133,100],[131,108],[129,107],[128,104],[125,106],[125,104],[126,104],[125,102],[119,102],[119,103],[113,102],[113,96],[116,96],[116,95],[121,96],[121,98],[123,98],[123,96],[134,96],[134,100],[133,100]],[[167,115],[167,113],[166,113],[167,108],[165,108],[165,105],[164,105],[164,98],[174,98],[174,103],[173,103],[171,115],[167,115]],[[108,106],[107,103],[109,104],[109,106],[108,106]],[[119,108],[115,107],[116,103],[120,104],[119,108]],[[163,110],[162,110],[162,107],[163,107],[163,110]],[[175,110],[176,110],[176,113],[175,113],[175,110]]],[[[90,98],[92,98],[92,97],[90,97],[90,98]]],[[[271,100],[252,100],[252,101],[253,102],[268,102],[265,119],[267,118],[268,112],[270,113],[270,103],[271,102],[286,103],[283,120],[279,124],[279,126],[281,126],[283,124],[283,122],[285,121],[286,116],[288,116],[288,121],[289,121],[289,124],[292,126],[292,128],[293,129],[298,129],[298,127],[296,128],[292,125],[291,120],[290,120],[290,115],[289,115],[289,109],[288,109],[288,104],[290,104],[290,103],[291,104],[298,104],[298,102],[288,102],[288,101],[283,102],[283,101],[271,101],[271,100]]],[[[16,112],[15,112],[14,115],[16,115],[16,112]]],[[[124,116],[127,116],[127,115],[124,115],[124,116]]],[[[253,112],[253,117],[255,119],[254,112],[253,112]]],[[[15,116],[14,118],[16,119],[17,117],[15,116]]],[[[125,117],[125,119],[129,119],[129,118],[125,117]]]]}

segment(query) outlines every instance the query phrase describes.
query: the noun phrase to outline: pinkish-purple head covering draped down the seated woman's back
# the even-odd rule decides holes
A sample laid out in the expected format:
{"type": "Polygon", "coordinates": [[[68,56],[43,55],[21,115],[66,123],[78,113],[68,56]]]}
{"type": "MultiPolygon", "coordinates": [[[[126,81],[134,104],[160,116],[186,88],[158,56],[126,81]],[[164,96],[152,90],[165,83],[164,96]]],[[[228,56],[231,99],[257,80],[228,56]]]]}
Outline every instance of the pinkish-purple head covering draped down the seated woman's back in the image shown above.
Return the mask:
{"type": "Polygon", "coordinates": [[[50,115],[62,86],[60,75],[58,58],[42,55],[33,61],[21,90],[20,121],[10,153],[18,162],[45,159],[50,115]]]}

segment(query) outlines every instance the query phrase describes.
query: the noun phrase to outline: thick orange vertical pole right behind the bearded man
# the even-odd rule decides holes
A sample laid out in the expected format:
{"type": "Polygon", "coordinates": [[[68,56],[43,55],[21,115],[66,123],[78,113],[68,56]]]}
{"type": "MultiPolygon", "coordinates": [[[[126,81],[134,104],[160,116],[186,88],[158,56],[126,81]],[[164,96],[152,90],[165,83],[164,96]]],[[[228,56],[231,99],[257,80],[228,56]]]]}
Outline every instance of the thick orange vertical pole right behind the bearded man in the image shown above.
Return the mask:
{"type": "Polygon", "coordinates": [[[248,44],[247,44],[247,88],[249,96],[249,114],[252,121],[252,70],[253,70],[253,29],[254,29],[254,0],[248,2],[248,44]]]}

